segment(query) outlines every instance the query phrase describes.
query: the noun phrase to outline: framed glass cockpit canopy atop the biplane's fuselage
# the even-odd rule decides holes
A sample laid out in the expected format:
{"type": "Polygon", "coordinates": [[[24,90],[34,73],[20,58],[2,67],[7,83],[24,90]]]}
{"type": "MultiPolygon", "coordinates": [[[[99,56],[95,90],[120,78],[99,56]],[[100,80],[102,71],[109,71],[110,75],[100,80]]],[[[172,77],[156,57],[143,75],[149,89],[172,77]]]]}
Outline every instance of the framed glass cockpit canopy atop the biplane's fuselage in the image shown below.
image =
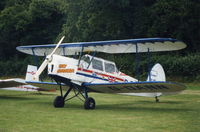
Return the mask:
{"type": "Polygon", "coordinates": [[[114,62],[93,57],[90,55],[82,56],[81,61],[80,61],[80,66],[83,69],[94,69],[94,70],[104,71],[108,73],[118,73],[118,70],[114,62]]]}

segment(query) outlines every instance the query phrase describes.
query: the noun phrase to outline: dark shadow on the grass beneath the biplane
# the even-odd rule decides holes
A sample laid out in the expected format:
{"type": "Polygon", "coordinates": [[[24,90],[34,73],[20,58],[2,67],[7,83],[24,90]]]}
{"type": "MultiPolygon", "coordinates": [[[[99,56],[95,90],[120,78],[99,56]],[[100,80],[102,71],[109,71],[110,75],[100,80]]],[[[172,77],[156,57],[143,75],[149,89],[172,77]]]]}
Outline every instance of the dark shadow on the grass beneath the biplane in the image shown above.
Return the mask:
{"type": "MultiPolygon", "coordinates": [[[[49,95],[49,94],[47,94],[49,95]]],[[[50,94],[52,95],[52,94],[50,94]]],[[[1,99],[1,96],[0,96],[1,99]]],[[[54,97],[52,97],[52,100],[48,101],[41,101],[37,102],[40,105],[44,106],[53,106],[54,97]]],[[[99,101],[100,102],[100,101],[99,101]]],[[[151,111],[151,112],[185,112],[185,111],[191,111],[192,108],[186,108],[184,107],[185,102],[184,101],[175,101],[175,100],[163,100],[159,103],[154,102],[154,100],[138,100],[133,102],[120,102],[120,103],[98,103],[96,102],[96,109],[95,111],[126,111],[126,112],[134,112],[134,111],[151,111]],[[178,106],[177,106],[178,105],[178,106]]],[[[64,108],[55,108],[55,109],[68,109],[68,110],[84,110],[84,102],[81,101],[67,101],[65,102],[64,108]]]]}

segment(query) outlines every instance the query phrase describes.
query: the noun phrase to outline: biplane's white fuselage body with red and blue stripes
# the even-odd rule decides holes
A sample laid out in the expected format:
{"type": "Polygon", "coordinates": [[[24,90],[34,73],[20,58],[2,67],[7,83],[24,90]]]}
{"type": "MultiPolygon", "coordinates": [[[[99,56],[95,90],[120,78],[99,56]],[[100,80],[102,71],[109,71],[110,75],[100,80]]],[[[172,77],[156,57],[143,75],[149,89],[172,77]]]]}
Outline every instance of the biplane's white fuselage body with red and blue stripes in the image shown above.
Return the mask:
{"type": "Polygon", "coordinates": [[[95,69],[92,64],[84,64],[83,60],[79,60],[64,57],[60,55],[53,55],[52,61],[48,64],[48,74],[58,75],[63,78],[70,79],[75,82],[88,82],[88,83],[110,83],[110,82],[135,82],[137,79],[121,74],[117,71],[116,65],[114,62],[107,61],[101,58],[92,57],[90,55],[85,55],[91,59],[100,60],[103,63],[103,70],[95,69]],[[113,73],[105,72],[104,63],[110,63],[115,66],[115,71],[113,73]],[[65,68],[60,68],[60,65],[66,65],[65,68]],[[74,72],[58,72],[59,69],[63,70],[73,70],[74,72]],[[113,79],[113,80],[112,80],[113,79]]]}

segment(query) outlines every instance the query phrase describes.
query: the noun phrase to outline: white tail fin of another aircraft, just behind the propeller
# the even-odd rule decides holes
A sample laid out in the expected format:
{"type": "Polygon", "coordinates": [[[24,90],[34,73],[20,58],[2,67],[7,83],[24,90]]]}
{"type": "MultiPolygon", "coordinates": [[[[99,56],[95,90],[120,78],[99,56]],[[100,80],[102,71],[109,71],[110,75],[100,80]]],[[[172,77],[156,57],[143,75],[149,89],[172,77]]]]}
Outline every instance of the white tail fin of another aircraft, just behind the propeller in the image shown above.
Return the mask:
{"type": "Polygon", "coordinates": [[[26,72],[26,81],[39,81],[34,79],[34,75],[37,72],[37,66],[28,65],[26,72]]]}

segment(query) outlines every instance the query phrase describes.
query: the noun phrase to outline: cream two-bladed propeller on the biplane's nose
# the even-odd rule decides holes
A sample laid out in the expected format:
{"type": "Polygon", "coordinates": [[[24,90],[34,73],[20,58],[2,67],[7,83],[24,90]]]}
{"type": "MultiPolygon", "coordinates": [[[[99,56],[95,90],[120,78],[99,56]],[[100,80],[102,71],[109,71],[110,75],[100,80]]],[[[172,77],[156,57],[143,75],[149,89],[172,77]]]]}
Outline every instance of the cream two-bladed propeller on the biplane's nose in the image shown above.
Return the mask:
{"type": "Polygon", "coordinates": [[[58,49],[58,47],[60,46],[60,44],[62,43],[63,39],[65,38],[65,36],[63,36],[60,41],[58,42],[58,44],[56,45],[55,49],[51,52],[51,54],[49,54],[45,60],[43,61],[43,63],[41,64],[41,66],[39,67],[39,69],[37,70],[37,72],[35,73],[35,76],[34,76],[34,80],[39,80],[39,76],[40,74],[44,71],[44,69],[46,68],[46,66],[49,64],[49,62],[52,61],[52,57],[53,57],[53,54],[56,52],[56,50],[58,49]]]}

